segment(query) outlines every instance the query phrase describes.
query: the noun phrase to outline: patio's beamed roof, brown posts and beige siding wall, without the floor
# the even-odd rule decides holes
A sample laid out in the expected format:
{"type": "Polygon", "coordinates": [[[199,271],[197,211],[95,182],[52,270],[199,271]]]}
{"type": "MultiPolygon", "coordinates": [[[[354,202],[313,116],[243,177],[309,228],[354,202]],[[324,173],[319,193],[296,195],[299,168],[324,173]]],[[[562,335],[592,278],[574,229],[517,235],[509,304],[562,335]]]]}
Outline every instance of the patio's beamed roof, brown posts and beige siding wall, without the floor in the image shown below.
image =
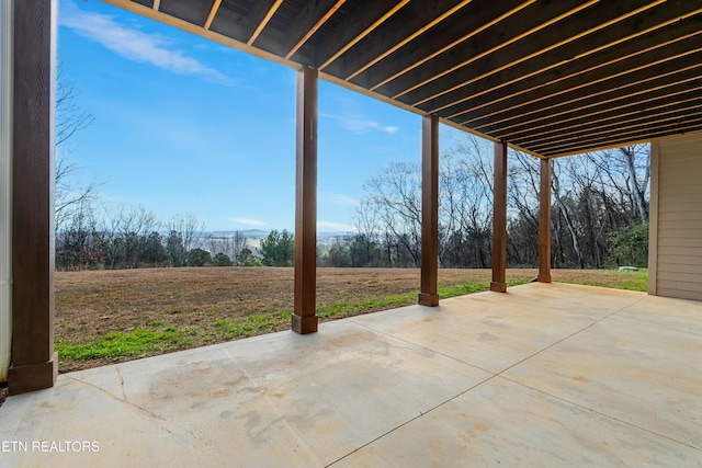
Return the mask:
{"type": "MultiPolygon", "coordinates": [[[[702,300],[699,2],[106,1],[297,70],[294,331],[318,324],[318,79],[422,115],[420,305],[439,304],[440,123],[495,142],[491,290],[507,289],[508,147],[540,159],[550,283],[552,159],[652,141],[648,292],[702,300]]],[[[5,0],[0,23],[0,381],[19,395],[57,377],[56,1],[5,0]]]]}

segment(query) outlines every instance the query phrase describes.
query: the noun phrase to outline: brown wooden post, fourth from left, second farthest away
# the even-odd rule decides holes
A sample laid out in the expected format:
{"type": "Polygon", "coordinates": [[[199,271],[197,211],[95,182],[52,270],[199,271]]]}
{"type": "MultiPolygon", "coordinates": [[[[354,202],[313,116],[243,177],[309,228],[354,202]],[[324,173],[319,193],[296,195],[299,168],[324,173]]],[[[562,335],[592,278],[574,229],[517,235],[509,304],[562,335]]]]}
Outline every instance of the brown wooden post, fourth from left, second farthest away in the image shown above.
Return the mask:
{"type": "Polygon", "coordinates": [[[490,290],[507,292],[507,141],[495,142],[492,184],[492,282],[490,290]]]}

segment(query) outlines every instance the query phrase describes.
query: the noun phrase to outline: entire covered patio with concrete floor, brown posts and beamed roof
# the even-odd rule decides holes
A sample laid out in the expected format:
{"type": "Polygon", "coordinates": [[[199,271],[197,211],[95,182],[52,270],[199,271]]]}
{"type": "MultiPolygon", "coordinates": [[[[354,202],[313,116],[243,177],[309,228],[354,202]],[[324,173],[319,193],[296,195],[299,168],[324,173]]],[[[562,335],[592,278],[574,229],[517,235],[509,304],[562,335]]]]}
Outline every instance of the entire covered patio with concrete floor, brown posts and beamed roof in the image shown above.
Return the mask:
{"type": "Polygon", "coordinates": [[[109,1],[298,70],[302,335],[57,376],[56,2],[3,1],[0,465],[702,465],[699,2],[109,1]],[[419,305],[315,333],[318,78],[423,116],[422,262],[419,305]],[[439,304],[440,123],[495,142],[500,294],[439,304]],[[641,141],[650,295],[550,284],[552,158],[641,141]],[[541,167],[540,283],[509,290],[508,147],[541,167]]]}

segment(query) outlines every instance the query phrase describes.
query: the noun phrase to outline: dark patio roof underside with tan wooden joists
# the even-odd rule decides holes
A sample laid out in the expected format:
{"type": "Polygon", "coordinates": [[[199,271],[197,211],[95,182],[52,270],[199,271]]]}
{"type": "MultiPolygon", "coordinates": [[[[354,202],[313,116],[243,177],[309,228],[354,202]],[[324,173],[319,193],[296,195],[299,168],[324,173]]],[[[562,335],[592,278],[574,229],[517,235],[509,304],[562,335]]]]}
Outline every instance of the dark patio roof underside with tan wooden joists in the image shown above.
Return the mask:
{"type": "Polygon", "coordinates": [[[689,0],[105,0],[539,157],[702,129],[689,0]]]}

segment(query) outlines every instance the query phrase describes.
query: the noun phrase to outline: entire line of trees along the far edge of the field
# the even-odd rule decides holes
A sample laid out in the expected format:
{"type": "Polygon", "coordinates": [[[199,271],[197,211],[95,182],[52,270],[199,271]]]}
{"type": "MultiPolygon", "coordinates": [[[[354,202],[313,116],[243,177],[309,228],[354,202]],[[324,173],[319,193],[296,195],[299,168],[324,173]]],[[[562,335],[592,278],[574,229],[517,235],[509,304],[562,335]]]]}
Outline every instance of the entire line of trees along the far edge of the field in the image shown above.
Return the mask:
{"type": "MultiPolygon", "coordinates": [[[[539,247],[539,161],[508,158],[510,267],[533,267],[539,247]]],[[[648,146],[552,161],[552,265],[646,266],[648,146]]],[[[474,137],[441,157],[439,261],[442,267],[487,269],[492,262],[492,155],[474,137]]],[[[321,266],[417,267],[421,247],[419,161],[390,162],[364,184],[355,232],[320,246],[321,266]]],[[[292,266],[294,236],[260,240],[236,231],[205,235],[194,215],[159,221],[145,208],[98,213],[94,201],[57,206],[56,266],[60,270],[159,266],[292,266]]]]}

